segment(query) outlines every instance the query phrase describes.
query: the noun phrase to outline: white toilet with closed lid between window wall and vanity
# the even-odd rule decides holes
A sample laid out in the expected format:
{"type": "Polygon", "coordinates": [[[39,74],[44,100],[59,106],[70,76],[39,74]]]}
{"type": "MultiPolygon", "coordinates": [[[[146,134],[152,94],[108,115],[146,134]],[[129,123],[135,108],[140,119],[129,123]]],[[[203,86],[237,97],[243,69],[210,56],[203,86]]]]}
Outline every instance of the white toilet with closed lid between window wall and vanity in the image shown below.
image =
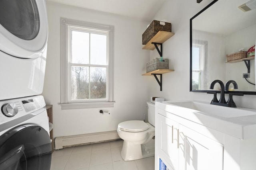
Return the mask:
{"type": "Polygon", "coordinates": [[[136,160],[155,155],[155,105],[147,102],[148,122],[124,121],[118,124],[117,133],[124,140],[121,156],[123,160],[136,160]]]}

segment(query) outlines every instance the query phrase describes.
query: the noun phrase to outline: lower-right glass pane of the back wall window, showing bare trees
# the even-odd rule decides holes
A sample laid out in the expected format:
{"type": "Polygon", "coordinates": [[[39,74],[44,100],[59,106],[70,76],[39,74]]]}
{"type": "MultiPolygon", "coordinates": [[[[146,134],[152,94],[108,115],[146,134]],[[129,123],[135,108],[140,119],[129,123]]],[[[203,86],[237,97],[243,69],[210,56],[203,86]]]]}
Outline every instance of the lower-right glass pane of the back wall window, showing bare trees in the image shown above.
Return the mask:
{"type": "Polygon", "coordinates": [[[91,99],[106,98],[106,68],[90,68],[91,99]]]}

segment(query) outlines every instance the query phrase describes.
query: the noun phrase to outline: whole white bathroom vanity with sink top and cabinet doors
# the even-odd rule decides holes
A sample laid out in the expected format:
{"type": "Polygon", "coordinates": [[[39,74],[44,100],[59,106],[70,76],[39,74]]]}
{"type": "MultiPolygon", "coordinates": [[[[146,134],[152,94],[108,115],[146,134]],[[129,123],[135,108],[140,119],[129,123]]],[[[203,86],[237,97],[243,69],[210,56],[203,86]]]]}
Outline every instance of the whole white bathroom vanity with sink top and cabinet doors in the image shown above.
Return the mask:
{"type": "Polygon", "coordinates": [[[160,159],[166,170],[256,170],[256,115],[249,115],[247,124],[246,116],[223,121],[172,109],[156,104],[155,170],[162,170],[160,159]],[[236,131],[242,123],[252,133],[236,131]]]}

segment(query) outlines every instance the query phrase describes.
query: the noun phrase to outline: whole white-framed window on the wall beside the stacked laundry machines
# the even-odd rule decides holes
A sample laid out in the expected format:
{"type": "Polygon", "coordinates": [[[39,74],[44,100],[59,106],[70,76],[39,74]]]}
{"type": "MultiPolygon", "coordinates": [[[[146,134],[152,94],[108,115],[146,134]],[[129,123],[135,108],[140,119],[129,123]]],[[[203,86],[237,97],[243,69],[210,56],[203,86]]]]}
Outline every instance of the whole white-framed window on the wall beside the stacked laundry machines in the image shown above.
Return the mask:
{"type": "Polygon", "coordinates": [[[61,18],[62,109],[113,107],[114,27],[61,18]]]}

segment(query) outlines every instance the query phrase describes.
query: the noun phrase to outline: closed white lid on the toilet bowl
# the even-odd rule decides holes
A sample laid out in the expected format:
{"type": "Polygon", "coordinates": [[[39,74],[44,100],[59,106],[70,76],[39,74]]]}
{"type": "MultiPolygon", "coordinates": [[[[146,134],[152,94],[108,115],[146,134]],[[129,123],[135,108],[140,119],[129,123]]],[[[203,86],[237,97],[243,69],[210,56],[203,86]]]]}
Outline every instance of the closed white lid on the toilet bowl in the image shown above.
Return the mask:
{"type": "Polygon", "coordinates": [[[118,128],[127,132],[141,132],[146,131],[149,127],[144,121],[130,120],[119,123],[118,128]]]}

